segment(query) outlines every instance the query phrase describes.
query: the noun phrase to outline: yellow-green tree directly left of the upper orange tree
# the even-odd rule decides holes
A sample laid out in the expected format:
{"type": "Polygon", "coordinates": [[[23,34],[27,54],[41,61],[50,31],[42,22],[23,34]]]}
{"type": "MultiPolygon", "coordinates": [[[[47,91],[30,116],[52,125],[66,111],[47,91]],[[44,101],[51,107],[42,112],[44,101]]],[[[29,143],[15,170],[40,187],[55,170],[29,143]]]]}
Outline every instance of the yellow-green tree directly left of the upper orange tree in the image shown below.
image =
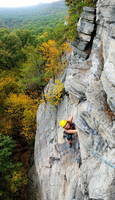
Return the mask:
{"type": "Polygon", "coordinates": [[[26,93],[36,93],[38,97],[41,89],[46,84],[43,81],[44,71],[42,65],[44,62],[34,46],[27,46],[24,52],[27,55],[27,61],[22,63],[19,69],[19,82],[26,93]]]}

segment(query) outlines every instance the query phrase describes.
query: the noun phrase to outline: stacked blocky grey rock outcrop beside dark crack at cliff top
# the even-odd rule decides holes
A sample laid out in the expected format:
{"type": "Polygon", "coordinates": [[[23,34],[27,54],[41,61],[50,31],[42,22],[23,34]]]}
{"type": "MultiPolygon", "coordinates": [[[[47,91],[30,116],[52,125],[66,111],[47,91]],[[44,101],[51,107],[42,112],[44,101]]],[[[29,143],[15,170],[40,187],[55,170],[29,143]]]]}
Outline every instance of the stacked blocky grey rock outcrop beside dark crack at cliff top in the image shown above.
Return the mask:
{"type": "Polygon", "coordinates": [[[74,56],[76,60],[85,60],[90,54],[90,49],[95,34],[95,8],[84,7],[82,15],[77,24],[78,39],[73,42],[74,56]]]}

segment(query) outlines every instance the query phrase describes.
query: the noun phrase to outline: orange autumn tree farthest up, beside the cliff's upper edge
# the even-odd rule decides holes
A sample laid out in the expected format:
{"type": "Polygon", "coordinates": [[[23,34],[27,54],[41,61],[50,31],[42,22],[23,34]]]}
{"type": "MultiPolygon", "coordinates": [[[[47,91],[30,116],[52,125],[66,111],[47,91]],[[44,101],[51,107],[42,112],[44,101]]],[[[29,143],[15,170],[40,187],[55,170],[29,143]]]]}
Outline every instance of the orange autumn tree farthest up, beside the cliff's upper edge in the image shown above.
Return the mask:
{"type": "Polygon", "coordinates": [[[45,80],[55,78],[58,74],[63,72],[65,63],[62,56],[71,51],[68,43],[58,46],[55,40],[48,40],[43,42],[39,48],[45,61],[45,80]]]}

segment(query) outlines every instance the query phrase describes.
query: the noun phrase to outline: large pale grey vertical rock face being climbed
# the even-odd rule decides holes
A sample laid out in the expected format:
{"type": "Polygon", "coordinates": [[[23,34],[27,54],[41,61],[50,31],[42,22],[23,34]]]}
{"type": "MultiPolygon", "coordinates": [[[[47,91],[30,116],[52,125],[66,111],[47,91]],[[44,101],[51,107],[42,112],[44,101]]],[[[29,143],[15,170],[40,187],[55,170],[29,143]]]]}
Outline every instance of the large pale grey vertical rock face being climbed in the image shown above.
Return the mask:
{"type": "MultiPolygon", "coordinates": [[[[93,21],[91,13],[83,13],[83,20],[93,21]]],[[[74,48],[69,59],[62,77],[68,95],[57,108],[41,104],[38,109],[37,200],[115,200],[114,0],[98,0],[95,26],[89,58],[76,57],[74,48]],[[71,115],[78,137],[69,148],[59,121],[71,115]]],[[[87,33],[80,35],[90,40],[87,33]]]]}

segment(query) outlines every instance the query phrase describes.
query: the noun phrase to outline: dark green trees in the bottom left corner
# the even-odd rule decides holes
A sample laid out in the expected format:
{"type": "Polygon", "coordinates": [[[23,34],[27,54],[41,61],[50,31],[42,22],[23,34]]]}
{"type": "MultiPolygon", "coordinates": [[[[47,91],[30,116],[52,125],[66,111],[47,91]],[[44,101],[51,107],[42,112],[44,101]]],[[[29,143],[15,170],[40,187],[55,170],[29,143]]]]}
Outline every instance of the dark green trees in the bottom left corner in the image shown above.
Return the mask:
{"type": "Polygon", "coordinates": [[[22,164],[13,161],[16,147],[11,137],[0,134],[0,198],[12,200],[19,195],[20,188],[27,185],[22,164]]]}

